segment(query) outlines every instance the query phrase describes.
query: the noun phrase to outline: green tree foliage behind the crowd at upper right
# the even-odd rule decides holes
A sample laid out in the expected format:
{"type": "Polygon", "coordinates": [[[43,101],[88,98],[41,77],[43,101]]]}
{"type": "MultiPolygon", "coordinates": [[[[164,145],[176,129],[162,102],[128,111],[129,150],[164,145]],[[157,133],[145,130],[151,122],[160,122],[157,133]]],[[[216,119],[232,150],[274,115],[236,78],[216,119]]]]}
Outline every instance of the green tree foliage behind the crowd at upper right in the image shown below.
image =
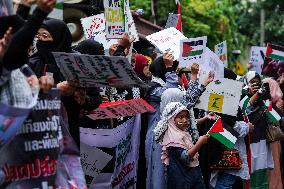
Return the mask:
{"type": "MultiPolygon", "coordinates": [[[[156,21],[164,26],[168,14],[176,11],[175,0],[153,0],[156,21]]],[[[260,10],[266,11],[266,42],[284,42],[284,1],[281,0],[180,0],[183,33],[186,37],[208,37],[207,46],[227,41],[229,63],[232,50],[242,52],[251,45],[260,45],[260,10]]],[[[144,9],[144,18],[153,20],[151,0],[131,0],[131,8],[144,9]]],[[[242,54],[245,56],[245,53],[242,54]]],[[[232,64],[231,64],[232,65],[232,64]]]]}

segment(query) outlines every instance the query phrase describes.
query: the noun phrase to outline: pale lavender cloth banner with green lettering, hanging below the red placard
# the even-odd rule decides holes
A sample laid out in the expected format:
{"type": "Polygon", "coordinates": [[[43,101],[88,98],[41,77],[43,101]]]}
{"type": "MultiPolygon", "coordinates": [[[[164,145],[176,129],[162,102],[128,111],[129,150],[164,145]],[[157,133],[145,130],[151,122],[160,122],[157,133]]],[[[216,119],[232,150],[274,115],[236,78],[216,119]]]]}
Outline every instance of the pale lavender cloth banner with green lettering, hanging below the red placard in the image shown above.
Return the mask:
{"type": "Polygon", "coordinates": [[[90,189],[94,188],[136,188],[139,156],[140,115],[127,120],[114,129],[80,128],[81,142],[105,148],[116,148],[115,165],[112,174],[98,175],[90,189]],[[106,178],[108,177],[108,178],[106,178]]]}

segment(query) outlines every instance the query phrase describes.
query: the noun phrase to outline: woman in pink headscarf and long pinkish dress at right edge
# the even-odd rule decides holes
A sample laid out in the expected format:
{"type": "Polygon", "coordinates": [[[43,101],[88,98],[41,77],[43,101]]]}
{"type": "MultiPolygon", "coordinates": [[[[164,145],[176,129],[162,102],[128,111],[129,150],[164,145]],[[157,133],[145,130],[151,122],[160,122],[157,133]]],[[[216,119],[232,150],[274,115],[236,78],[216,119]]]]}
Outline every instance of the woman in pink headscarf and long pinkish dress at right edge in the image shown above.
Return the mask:
{"type": "MultiPolygon", "coordinates": [[[[264,83],[269,84],[271,101],[277,108],[283,112],[283,93],[277,81],[272,78],[266,78],[263,80],[264,83]]],[[[281,165],[281,143],[275,141],[270,143],[272,150],[272,156],[274,161],[274,169],[269,170],[269,189],[283,189],[283,181],[281,178],[282,167],[281,165]]]]}

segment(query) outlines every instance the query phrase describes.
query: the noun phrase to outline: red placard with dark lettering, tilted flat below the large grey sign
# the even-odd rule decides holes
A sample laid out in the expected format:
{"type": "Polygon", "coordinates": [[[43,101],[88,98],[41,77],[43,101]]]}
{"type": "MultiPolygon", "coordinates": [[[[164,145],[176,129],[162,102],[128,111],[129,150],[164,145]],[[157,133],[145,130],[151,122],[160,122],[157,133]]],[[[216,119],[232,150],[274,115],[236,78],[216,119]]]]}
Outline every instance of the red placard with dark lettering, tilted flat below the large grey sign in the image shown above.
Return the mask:
{"type": "Polygon", "coordinates": [[[139,113],[155,111],[150,104],[141,98],[103,103],[93,110],[88,117],[96,119],[109,119],[134,116],[139,113]]]}

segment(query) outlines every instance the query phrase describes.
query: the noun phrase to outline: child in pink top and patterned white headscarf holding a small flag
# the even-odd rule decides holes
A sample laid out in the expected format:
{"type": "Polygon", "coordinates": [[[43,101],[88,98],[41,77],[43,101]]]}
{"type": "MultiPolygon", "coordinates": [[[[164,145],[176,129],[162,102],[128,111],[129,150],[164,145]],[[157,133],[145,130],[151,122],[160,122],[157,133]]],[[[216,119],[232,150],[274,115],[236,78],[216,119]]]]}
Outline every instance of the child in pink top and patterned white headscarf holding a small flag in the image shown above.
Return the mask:
{"type": "Polygon", "coordinates": [[[193,144],[192,136],[187,131],[192,120],[186,106],[171,102],[154,130],[155,140],[162,145],[161,159],[167,168],[167,188],[205,189],[197,152],[209,135],[200,136],[193,144]]]}

